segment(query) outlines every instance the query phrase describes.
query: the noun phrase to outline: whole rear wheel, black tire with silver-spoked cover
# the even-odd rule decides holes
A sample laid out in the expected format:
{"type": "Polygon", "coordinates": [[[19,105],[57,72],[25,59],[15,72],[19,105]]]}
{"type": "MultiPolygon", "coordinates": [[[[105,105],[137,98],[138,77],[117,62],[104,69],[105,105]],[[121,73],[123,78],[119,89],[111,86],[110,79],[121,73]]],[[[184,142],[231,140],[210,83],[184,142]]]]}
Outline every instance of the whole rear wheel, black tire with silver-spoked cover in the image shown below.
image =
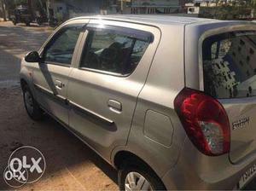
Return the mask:
{"type": "Polygon", "coordinates": [[[143,165],[128,165],[119,170],[119,188],[124,191],[166,190],[154,171],[143,165]]]}

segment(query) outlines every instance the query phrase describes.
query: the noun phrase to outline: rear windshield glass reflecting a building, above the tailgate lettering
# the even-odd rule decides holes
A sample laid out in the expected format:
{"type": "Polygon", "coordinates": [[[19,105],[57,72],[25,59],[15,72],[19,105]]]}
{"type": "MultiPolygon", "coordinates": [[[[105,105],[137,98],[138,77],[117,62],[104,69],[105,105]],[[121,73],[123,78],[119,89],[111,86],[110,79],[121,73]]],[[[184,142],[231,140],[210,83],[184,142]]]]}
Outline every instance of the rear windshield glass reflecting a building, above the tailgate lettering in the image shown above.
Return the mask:
{"type": "Polygon", "coordinates": [[[215,98],[256,96],[256,32],[227,32],[202,45],[204,90],[215,98]]]}

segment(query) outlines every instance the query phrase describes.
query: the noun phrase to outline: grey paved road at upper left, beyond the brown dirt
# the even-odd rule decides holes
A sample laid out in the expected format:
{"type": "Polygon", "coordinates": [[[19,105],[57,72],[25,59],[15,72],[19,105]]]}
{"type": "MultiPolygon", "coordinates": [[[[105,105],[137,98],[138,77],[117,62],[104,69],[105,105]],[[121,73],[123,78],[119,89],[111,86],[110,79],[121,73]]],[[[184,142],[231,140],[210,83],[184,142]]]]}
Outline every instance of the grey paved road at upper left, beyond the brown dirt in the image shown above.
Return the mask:
{"type": "Polygon", "coordinates": [[[30,50],[37,50],[49,37],[47,27],[13,26],[0,22],[0,87],[19,79],[20,59],[30,50]]]}

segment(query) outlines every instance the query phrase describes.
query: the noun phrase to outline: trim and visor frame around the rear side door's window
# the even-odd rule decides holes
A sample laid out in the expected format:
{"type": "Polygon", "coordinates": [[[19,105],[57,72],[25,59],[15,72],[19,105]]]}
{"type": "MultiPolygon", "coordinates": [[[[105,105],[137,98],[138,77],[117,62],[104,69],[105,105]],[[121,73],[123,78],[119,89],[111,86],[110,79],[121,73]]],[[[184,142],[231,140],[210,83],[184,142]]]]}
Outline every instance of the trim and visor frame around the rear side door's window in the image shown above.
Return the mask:
{"type": "MultiPolygon", "coordinates": [[[[80,52],[80,58],[79,58],[79,66],[78,69],[79,70],[84,70],[84,71],[88,71],[88,72],[96,72],[96,73],[101,73],[101,74],[106,74],[106,75],[111,75],[111,76],[115,76],[115,77],[120,77],[120,78],[126,78],[129,77],[135,70],[137,67],[135,67],[130,73],[127,74],[122,74],[119,72],[108,72],[108,71],[104,71],[104,70],[98,70],[98,69],[93,69],[90,67],[81,67],[82,64],[82,60],[83,60],[83,54],[84,54],[84,50],[86,49],[86,43],[89,37],[89,29],[93,30],[93,31],[97,31],[97,30],[102,30],[102,29],[107,29],[113,32],[116,32],[117,34],[121,34],[121,35],[125,35],[125,33],[127,32],[127,30],[129,32],[143,32],[144,34],[148,35],[148,46],[151,43],[154,43],[154,34],[152,32],[146,32],[143,30],[139,30],[139,29],[134,29],[134,28],[130,28],[130,27],[123,27],[123,26],[111,26],[111,25],[104,25],[103,27],[100,24],[94,24],[94,23],[90,23],[87,24],[86,26],[84,26],[85,28],[85,33],[86,33],[86,38],[84,40],[84,44],[82,45],[82,51],[80,52]],[[118,33],[120,32],[120,33],[118,33]],[[121,33],[122,32],[122,33],[121,33]]],[[[126,35],[128,36],[128,35],[126,35]]],[[[137,38],[137,36],[129,36],[131,38],[136,38],[137,40],[143,40],[142,38],[137,38]]],[[[143,40],[146,41],[146,40],[143,40]]],[[[148,49],[148,48],[147,48],[148,49]]],[[[147,49],[145,50],[145,52],[147,51],[147,49]]],[[[145,52],[143,55],[145,55],[145,52]]],[[[143,58],[143,57],[142,57],[143,58]]],[[[140,62],[139,62],[140,63],[140,62]]],[[[138,63],[138,64],[139,64],[138,63]]]]}

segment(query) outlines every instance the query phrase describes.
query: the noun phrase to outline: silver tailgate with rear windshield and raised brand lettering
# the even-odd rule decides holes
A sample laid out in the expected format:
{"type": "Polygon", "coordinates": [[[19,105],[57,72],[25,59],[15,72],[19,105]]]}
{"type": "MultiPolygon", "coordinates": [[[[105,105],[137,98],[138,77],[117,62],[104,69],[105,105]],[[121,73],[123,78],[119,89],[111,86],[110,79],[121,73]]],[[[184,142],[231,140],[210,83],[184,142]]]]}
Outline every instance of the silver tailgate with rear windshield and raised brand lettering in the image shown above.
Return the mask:
{"type": "Polygon", "coordinates": [[[256,151],[256,31],[223,32],[202,44],[204,90],[230,119],[230,160],[256,151]]]}

